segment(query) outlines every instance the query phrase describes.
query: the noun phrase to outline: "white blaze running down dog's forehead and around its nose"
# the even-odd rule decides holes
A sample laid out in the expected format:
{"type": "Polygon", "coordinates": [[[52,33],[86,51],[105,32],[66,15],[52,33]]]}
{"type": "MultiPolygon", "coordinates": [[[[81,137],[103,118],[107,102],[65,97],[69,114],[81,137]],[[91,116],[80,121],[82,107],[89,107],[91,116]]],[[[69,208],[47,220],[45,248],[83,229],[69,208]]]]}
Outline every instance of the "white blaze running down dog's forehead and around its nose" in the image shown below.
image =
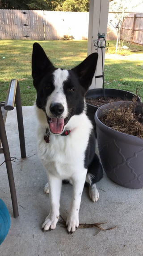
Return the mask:
{"type": "Polygon", "coordinates": [[[50,112],[50,106],[52,104],[59,103],[63,106],[63,113],[60,118],[66,118],[68,115],[67,99],[63,91],[63,82],[68,80],[69,73],[66,69],[56,69],[53,72],[53,84],[55,86],[54,91],[48,96],[46,103],[46,113],[48,117],[53,117],[53,113],[50,112]]]}

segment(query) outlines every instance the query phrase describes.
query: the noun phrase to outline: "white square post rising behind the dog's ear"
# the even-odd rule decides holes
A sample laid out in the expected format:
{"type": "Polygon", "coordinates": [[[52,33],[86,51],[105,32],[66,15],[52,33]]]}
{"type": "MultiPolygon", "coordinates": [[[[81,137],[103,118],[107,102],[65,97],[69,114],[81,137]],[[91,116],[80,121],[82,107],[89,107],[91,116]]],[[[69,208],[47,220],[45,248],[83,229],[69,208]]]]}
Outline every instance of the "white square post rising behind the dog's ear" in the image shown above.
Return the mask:
{"type": "MultiPolygon", "coordinates": [[[[109,13],[109,0],[90,0],[89,7],[89,28],[88,28],[88,55],[95,52],[93,40],[98,39],[98,33],[107,35],[109,13]]],[[[95,79],[95,76],[102,75],[102,57],[101,49],[97,50],[99,57],[97,69],[93,77],[90,89],[102,88],[102,78],[95,79]]],[[[105,49],[103,49],[103,59],[105,59],[105,49]]]]}

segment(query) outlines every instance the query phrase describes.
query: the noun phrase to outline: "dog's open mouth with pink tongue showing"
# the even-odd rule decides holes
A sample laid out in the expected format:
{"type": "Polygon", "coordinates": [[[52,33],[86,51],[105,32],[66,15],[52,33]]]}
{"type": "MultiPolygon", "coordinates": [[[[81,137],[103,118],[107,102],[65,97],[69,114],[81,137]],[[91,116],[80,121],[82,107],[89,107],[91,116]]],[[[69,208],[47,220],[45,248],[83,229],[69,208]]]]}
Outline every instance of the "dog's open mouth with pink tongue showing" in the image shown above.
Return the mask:
{"type": "Polygon", "coordinates": [[[47,121],[50,126],[50,131],[54,134],[60,134],[63,131],[64,126],[68,122],[68,117],[66,118],[50,118],[47,116],[47,121]]]}

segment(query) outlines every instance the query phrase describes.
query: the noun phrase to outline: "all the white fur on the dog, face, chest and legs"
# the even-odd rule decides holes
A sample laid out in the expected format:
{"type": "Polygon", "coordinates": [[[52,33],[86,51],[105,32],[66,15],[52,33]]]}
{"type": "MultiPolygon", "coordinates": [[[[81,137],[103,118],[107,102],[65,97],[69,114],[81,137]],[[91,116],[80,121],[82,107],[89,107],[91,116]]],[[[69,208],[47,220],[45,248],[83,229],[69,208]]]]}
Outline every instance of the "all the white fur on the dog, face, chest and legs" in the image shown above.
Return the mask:
{"type": "MultiPolygon", "coordinates": [[[[46,112],[50,116],[50,103],[58,100],[64,105],[66,110],[66,97],[63,96],[63,81],[68,78],[67,70],[56,70],[55,90],[50,95],[46,104],[46,112]],[[57,94],[58,90],[58,94],[57,94]],[[57,97],[56,97],[57,95],[57,97]],[[61,101],[60,101],[61,100],[61,101]]],[[[67,111],[67,110],[66,110],[67,111]]],[[[65,112],[66,112],[65,111],[65,112]]],[[[46,144],[44,135],[49,125],[46,120],[46,114],[36,107],[38,117],[38,157],[46,168],[48,184],[45,187],[45,193],[50,193],[50,213],[42,225],[44,230],[55,229],[59,219],[59,200],[62,186],[62,180],[71,180],[73,184],[73,193],[70,208],[67,217],[67,230],[74,232],[79,225],[79,209],[81,195],[85,180],[91,183],[90,175],[87,175],[87,169],[84,168],[85,150],[88,145],[92,123],[89,121],[85,111],[80,115],[74,115],[67,123],[67,128],[72,130],[68,136],[50,134],[50,143],[46,144]],[[82,131],[82,132],[81,132],[82,131]]],[[[99,198],[98,190],[94,184],[89,190],[93,202],[99,198]]]]}

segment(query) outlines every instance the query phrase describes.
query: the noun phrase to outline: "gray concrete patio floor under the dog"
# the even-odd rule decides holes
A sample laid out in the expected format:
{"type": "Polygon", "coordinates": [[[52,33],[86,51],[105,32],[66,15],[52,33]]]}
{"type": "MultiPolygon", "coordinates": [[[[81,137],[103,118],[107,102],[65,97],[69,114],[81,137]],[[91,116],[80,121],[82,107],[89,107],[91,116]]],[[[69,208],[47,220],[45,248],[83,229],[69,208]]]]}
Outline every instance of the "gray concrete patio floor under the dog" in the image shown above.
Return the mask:
{"type": "MultiPolygon", "coordinates": [[[[114,184],[104,174],[97,184],[100,200],[93,203],[84,188],[80,223],[108,222],[97,228],[77,229],[72,235],[58,223],[55,230],[42,232],[41,226],[50,210],[49,195],[43,192],[46,171],[38,160],[34,107],[23,107],[27,158],[21,160],[16,109],[8,112],[6,130],[13,162],[19,217],[13,218],[5,164],[0,166],[0,198],[11,216],[7,237],[0,246],[0,256],[143,256],[143,190],[126,189],[114,184]]],[[[4,155],[0,155],[0,163],[4,155]]],[[[64,184],[60,214],[67,217],[72,186],[64,184]]]]}

